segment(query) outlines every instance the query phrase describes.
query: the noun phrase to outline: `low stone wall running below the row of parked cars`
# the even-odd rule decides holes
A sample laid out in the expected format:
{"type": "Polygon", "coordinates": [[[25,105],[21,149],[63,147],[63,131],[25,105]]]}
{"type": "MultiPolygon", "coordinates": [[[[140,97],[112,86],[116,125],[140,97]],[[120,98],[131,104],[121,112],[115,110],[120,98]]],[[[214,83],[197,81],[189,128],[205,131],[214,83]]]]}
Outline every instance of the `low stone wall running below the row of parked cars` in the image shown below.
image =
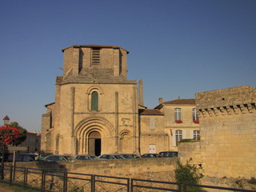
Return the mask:
{"type": "Polygon", "coordinates": [[[75,162],[17,162],[16,166],[175,182],[178,158],[142,158],[75,162]]]}

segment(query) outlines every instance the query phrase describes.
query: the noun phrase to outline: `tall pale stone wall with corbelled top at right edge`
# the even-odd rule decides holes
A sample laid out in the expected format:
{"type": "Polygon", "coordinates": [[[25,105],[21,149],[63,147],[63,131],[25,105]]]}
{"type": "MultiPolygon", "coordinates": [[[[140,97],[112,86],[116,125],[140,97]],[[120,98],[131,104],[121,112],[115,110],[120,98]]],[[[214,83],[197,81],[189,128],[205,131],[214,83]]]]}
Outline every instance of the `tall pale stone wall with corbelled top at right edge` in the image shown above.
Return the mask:
{"type": "Polygon", "coordinates": [[[255,102],[256,89],[250,86],[196,94],[207,176],[256,177],[255,102]]]}

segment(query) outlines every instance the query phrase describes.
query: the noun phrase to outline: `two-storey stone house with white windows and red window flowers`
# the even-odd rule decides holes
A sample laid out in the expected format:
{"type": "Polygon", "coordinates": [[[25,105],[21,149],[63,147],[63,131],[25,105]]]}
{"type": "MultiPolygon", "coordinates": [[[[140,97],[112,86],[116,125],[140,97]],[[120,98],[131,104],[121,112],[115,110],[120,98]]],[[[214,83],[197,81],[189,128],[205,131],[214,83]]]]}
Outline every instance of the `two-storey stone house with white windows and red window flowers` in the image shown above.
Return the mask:
{"type": "Polygon", "coordinates": [[[163,123],[169,135],[169,150],[178,150],[178,142],[182,139],[200,140],[199,118],[194,98],[178,98],[163,102],[155,107],[164,114],[163,123]]]}

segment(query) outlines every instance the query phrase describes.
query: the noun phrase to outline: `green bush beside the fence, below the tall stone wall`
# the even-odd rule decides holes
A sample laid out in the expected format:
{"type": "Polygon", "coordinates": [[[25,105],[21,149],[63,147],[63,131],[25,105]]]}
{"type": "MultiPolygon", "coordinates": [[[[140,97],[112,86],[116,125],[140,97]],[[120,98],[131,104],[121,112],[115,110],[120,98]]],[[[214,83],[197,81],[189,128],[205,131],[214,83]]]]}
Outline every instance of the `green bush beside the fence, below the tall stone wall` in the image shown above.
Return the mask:
{"type": "MultiPolygon", "coordinates": [[[[190,158],[190,161],[192,158],[190,158]]],[[[190,165],[190,161],[186,162],[186,165],[182,165],[182,163],[178,160],[177,167],[175,170],[175,178],[176,181],[182,184],[182,191],[184,191],[184,184],[199,184],[199,179],[203,178],[203,174],[199,173],[199,170],[202,170],[202,167],[197,167],[195,165],[190,165]]],[[[191,191],[203,191],[199,187],[196,186],[187,186],[186,190],[191,191]]]]}

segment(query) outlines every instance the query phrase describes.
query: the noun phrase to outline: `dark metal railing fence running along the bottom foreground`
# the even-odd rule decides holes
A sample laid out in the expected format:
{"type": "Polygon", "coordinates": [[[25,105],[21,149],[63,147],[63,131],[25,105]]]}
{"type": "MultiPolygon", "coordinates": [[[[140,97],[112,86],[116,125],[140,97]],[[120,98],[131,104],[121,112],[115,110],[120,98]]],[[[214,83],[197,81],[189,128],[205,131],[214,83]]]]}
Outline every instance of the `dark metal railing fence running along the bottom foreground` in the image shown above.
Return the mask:
{"type": "Polygon", "coordinates": [[[126,192],[146,192],[146,191],[240,191],[255,192],[255,190],[243,190],[220,186],[205,186],[185,184],[177,182],[162,182],[135,178],[121,178],[96,174],[78,174],[66,171],[41,170],[34,168],[5,166],[4,178],[0,182],[9,185],[22,186],[42,192],[73,192],[73,191],[126,191],[126,192]],[[207,190],[205,190],[207,189],[207,190]]]}

